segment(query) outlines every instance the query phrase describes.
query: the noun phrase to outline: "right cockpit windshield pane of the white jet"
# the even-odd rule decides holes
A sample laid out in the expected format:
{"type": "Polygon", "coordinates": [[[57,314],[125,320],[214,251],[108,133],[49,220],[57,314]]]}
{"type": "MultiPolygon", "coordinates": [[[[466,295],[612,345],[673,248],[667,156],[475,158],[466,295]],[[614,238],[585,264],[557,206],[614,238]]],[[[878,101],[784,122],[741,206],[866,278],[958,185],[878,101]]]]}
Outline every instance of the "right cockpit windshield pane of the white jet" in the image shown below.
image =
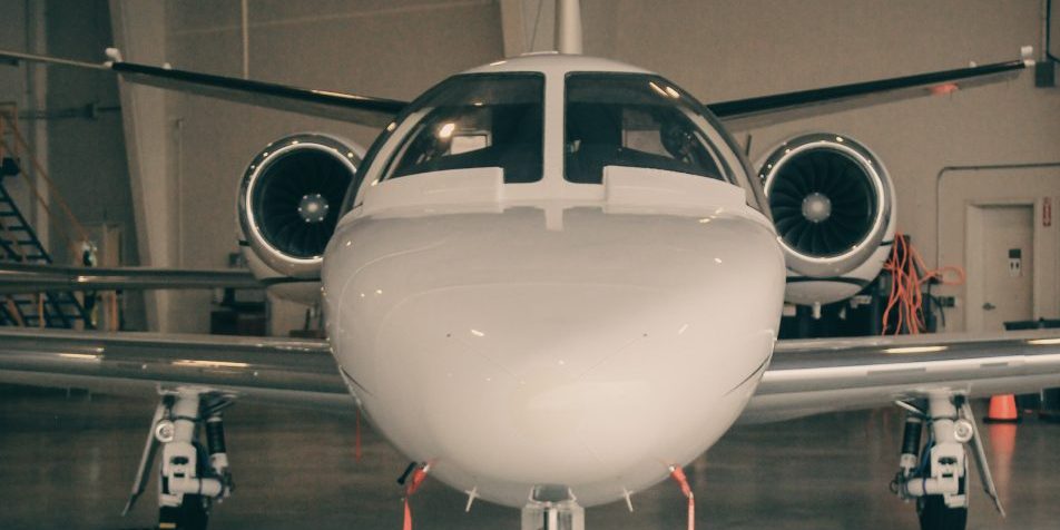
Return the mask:
{"type": "Polygon", "coordinates": [[[565,176],[600,184],[603,167],[665,169],[726,179],[716,149],[671,84],[627,73],[567,77],[565,176]]]}

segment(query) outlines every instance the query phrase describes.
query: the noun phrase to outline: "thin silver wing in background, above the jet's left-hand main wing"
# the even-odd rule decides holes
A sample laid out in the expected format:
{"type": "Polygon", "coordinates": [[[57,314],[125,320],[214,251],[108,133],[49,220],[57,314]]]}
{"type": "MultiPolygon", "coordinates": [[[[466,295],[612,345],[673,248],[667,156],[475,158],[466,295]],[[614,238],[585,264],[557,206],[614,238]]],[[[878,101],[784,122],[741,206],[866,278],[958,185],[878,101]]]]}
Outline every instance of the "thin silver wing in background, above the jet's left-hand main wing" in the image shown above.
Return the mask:
{"type": "Polygon", "coordinates": [[[63,267],[0,263],[0,295],[48,291],[137,291],[175,288],[262,288],[249,271],[186,271],[147,267],[63,267]]]}

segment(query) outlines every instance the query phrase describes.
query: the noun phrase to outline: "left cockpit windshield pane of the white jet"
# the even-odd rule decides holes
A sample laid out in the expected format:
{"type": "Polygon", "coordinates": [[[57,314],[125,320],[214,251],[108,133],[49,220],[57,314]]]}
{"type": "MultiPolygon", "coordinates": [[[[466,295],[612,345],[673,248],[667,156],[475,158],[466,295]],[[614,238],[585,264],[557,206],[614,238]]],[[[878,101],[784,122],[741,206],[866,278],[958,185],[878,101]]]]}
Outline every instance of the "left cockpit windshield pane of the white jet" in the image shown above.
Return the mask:
{"type": "Polygon", "coordinates": [[[419,122],[394,151],[383,180],[431,171],[500,167],[508,184],[541,179],[544,77],[458,76],[413,104],[419,122]]]}

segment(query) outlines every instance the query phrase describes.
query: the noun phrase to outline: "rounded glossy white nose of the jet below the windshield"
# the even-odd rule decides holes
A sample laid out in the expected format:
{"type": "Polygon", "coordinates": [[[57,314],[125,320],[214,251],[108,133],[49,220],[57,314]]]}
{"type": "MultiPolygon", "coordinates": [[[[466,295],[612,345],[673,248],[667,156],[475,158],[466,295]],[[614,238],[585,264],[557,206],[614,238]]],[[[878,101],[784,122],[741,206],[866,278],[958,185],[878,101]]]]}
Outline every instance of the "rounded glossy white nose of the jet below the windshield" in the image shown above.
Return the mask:
{"type": "Polygon", "coordinates": [[[728,428],[772,352],[783,256],[745,217],[583,208],[557,227],[527,208],[370,228],[404,248],[351,247],[342,282],[325,269],[340,362],[400,449],[487,499],[656,480],[728,428]]]}

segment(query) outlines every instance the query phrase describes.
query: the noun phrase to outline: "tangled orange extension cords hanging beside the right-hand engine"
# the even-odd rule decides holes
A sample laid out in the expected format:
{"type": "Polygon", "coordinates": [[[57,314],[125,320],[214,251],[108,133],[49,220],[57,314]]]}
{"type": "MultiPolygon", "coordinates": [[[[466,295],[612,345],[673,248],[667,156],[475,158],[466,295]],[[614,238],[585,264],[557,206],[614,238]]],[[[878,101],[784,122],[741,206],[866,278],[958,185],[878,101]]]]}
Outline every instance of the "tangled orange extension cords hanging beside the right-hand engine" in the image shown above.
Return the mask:
{"type": "Polygon", "coordinates": [[[883,333],[887,333],[887,322],[891,312],[896,312],[896,323],[892,331],[899,335],[907,333],[915,335],[926,328],[924,324],[924,294],[921,287],[932,278],[938,278],[943,285],[962,285],[965,279],[961,267],[942,267],[928,269],[920,253],[901,233],[894,234],[894,244],[891,246],[891,258],[883,265],[883,269],[891,273],[891,298],[887,308],[883,312],[883,333]],[[921,273],[921,271],[924,271],[921,273]],[[946,279],[946,274],[956,277],[946,279]]]}

